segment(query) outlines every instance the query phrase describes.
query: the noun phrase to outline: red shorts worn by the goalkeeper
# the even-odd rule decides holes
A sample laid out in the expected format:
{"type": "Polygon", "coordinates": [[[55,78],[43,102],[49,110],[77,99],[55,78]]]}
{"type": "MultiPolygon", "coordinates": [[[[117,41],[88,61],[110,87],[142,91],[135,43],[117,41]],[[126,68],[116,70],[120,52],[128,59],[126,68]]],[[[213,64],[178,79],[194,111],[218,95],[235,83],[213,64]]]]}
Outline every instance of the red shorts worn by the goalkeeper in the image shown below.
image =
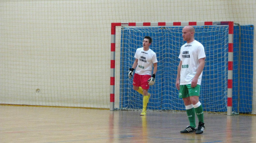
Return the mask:
{"type": "Polygon", "coordinates": [[[151,75],[139,75],[135,73],[133,77],[133,85],[136,87],[141,87],[142,89],[149,89],[149,84],[147,80],[150,77],[151,75]]]}

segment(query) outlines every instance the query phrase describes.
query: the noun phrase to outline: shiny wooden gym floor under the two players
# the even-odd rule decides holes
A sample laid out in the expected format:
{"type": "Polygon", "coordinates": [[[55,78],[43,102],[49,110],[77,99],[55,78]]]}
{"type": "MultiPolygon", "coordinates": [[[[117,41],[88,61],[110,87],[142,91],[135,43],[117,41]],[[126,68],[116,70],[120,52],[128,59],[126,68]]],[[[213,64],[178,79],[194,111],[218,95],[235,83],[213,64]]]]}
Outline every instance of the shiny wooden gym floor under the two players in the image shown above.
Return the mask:
{"type": "Polygon", "coordinates": [[[256,143],[256,116],[205,113],[203,134],[180,134],[186,113],[0,105],[0,143],[256,143]]]}

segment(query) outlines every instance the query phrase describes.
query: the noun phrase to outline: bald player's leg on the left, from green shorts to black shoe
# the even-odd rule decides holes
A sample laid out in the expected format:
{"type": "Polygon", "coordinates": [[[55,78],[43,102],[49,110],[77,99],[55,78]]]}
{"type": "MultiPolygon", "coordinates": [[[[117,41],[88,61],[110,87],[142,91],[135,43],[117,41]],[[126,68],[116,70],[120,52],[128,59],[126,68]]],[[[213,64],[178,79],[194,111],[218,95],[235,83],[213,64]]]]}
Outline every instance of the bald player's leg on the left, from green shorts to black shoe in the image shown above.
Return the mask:
{"type": "Polygon", "coordinates": [[[183,99],[183,102],[185,104],[185,109],[187,112],[187,117],[190,122],[190,126],[187,126],[187,128],[180,131],[180,133],[192,133],[197,130],[196,121],[195,121],[195,111],[190,101],[189,92],[186,85],[180,85],[179,98],[183,99]]]}

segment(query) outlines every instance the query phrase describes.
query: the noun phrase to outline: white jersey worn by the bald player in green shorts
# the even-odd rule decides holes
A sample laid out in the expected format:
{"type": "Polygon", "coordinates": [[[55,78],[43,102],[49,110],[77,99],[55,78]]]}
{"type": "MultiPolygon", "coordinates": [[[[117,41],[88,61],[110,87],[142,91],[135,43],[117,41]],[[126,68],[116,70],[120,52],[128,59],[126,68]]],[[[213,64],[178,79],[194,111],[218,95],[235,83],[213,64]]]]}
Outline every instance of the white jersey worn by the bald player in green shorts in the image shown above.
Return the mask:
{"type": "MultiPolygon", "coordinates": [[[[180,48],[179,59],[182,61],[180,70],[180,85],[191,84],[192,79],[197,73],[199,66],[199,59],[204,58],[204,46],[194,40],[193,42],[186,43],[180,48]]],[[[198,77],[197,84],[201,85],[202,75],[198,77]]]]}

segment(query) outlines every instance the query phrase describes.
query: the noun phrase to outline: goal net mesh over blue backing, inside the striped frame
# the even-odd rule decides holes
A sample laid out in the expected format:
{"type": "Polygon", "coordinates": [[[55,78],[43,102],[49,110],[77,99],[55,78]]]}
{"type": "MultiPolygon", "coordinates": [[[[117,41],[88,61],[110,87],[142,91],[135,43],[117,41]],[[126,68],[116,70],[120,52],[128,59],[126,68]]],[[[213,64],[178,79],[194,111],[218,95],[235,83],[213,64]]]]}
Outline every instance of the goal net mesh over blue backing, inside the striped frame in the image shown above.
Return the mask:
{"type": "MultiPolygon", "coordinates": [[[[228,26],[194,26],[195,40],[204,45],[206,60],[199,101],[206,112],[226,112],[228,82],[228,26]]],[[[156,52],[158,67],[156,82],[149,88],[148,110],[183,111],[183,100],[175,87],[180,47],[185,44],[182,26],[121,27],[120,80],[116,108],[141,110],[143,97],[133,90],[128,70],[135,60],[137,48],[145,36],[152,37],[150,48],[156,52]]]]}

